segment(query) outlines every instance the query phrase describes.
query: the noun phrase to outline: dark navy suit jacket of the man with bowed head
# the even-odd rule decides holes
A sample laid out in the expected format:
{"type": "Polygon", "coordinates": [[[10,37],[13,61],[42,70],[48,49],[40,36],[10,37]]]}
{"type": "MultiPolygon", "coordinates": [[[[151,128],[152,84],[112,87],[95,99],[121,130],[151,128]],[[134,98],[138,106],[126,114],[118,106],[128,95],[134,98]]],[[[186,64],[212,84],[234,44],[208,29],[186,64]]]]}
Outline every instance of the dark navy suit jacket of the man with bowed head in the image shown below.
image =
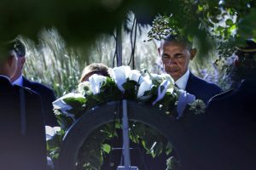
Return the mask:
{"type": "Polygon", "coordinates": [[[222,93],[222,89],[212,82],[207,82],[200,77],[195,77],[191,72],[185,89],[189,94],[194,94],[196,99],[205,103],[214,95],[222,93]]]}

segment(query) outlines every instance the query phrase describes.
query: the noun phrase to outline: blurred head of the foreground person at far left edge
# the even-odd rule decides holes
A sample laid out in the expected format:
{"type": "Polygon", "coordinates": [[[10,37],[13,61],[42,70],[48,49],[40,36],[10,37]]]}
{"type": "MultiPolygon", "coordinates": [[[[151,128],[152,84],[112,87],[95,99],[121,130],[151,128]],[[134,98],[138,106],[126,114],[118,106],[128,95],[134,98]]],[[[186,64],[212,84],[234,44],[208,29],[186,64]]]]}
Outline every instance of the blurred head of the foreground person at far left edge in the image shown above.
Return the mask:
{"type": "Polygon", "coordinates": [[[9,78],[15,76],[18,66],[18,55],[9,44],[2,44],[0,47],[0,74],[9,78]]]}

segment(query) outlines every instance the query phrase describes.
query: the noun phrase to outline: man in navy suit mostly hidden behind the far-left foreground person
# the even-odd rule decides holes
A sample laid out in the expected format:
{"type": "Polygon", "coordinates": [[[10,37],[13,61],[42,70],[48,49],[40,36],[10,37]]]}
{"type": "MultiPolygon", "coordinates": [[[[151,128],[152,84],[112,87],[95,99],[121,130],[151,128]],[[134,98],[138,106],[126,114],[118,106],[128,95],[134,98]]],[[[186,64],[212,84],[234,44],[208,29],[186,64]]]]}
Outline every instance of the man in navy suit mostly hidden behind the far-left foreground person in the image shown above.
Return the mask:
{"type": "Polygon", "coordinates": [[[15,40],[17,43],[17,48],[20,48],[20,57],[18,59],[18,69],[15,73],[15,76],[11,78],[11,82],[21,87],[31,88],[36,93],[40,94],[41,99],[43,100],[44,105],[44,121],[45,125],[50,127],[58,126],[58,123],[55,118],[53,111],[52,102],[55,101],[55,94],[52,89],[47,88],[41,83],[31,82],[22,76],[22,69],[26,62],[26,48],[20,40],[15,40]]]}

